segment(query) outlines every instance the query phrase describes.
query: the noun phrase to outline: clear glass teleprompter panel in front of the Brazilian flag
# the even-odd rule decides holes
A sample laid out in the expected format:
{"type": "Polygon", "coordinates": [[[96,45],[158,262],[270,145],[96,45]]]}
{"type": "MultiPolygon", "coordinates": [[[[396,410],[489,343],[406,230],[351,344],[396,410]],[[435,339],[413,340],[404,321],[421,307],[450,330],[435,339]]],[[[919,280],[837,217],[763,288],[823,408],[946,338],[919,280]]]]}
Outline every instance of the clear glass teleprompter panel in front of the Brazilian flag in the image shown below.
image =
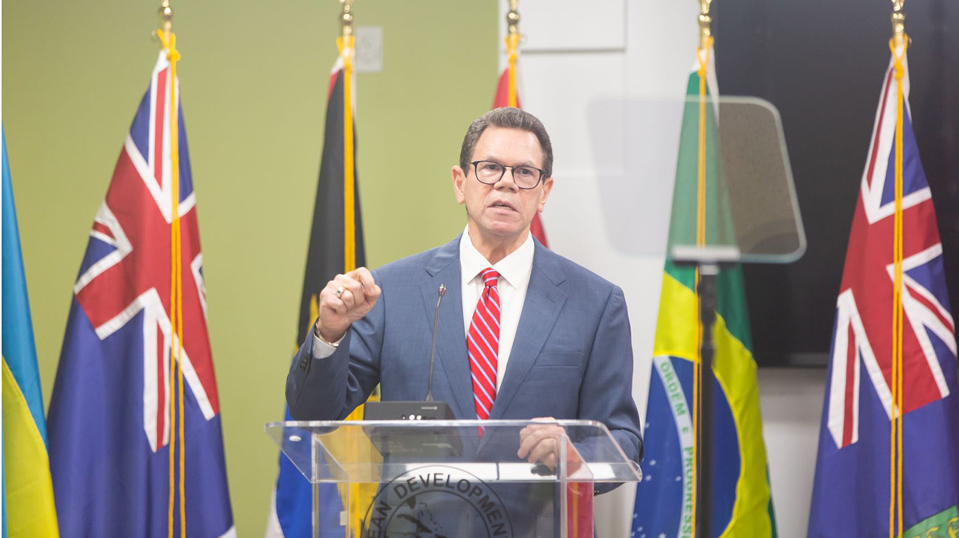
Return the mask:
{"type": "MultiPolygon", "coordinates": [[[[588,123],[596,214],[632,256],[720,247],[747,263],[806,250],[779,112],[756,98],[599,99],[588,123]]],[[[590,184],[593,183],[593,184],[590,184]]],[[[594,199],[594,197],[584,197],[594,199]]]]}

